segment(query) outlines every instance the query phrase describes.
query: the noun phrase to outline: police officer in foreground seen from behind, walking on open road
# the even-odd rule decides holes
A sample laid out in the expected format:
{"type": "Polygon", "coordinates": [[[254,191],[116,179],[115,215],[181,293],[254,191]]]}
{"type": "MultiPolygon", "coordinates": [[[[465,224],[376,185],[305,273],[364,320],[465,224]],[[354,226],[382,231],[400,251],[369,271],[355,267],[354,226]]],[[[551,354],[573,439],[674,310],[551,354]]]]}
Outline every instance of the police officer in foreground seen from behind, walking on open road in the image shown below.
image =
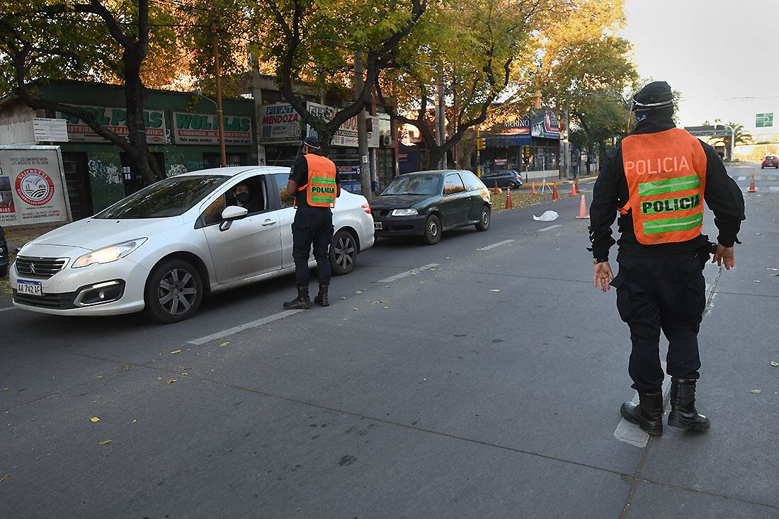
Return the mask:
{"type": "Polygon", "coordinates": [[[698,329],[706,282],[703,267],[730,270],[733,247],[744,220],[744,198],[712,147],[676,128],[671,87],[656,81],[633,97],[636,130],[609,154],[595,182],[590,206],[593,281],[601,291],[617,291],[619,316],[630,328],[633,349],[629,374],[639,404],[620,412],[652,436],[663,432],[664,372],[660,332],[668,339],[666,371],[671,376],[668,425],[709,429],[709,418],[695,408],[699,377],[698,329]],[[701,235],[704,202],[714,213],[717,245],[701,235]],[[619,212],[619,273],[608,250],[619,212]]]}

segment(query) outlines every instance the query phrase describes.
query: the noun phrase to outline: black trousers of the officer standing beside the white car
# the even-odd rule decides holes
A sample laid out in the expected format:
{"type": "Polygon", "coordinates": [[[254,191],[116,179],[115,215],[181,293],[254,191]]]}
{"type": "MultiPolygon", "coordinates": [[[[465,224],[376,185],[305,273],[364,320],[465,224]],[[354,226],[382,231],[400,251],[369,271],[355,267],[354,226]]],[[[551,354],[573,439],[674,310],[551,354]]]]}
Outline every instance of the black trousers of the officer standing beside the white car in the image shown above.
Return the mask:
{"type": "Polygon", "coordinates": [[[330,286],[330,242],[333,241],[333,212],[327,207],[298,207],[292,224],[292,259],[295,284],[308,287],[308,258],[314,245],[319,284],[330,286]]]}

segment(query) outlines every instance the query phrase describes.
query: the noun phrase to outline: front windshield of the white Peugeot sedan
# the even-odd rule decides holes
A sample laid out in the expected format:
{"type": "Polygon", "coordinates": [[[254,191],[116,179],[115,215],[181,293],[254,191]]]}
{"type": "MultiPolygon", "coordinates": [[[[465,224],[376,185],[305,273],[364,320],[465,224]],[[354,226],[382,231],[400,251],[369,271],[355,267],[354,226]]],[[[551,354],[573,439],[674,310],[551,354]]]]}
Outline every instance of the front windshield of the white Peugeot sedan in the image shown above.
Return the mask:
{"type": "Polygon", "coordinates": [[[121,220],[122,218],[179,216],[195,207],[200,200],[228,178],[230,177],[225,175],[165,178],[115,203],[95,217],[121,220]]]}

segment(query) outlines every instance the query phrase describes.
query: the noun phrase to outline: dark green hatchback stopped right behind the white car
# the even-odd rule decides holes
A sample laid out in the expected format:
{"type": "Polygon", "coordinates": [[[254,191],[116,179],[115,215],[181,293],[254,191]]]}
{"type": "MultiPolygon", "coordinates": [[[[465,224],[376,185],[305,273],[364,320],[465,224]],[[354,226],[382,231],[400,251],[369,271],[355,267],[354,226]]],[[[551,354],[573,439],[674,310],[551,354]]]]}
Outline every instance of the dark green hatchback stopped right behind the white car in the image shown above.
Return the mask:
{"type": "Polygon", "coordinates": [[[377,237],[421,236],[428,245],[453,228],[475,225],[486,231],[492,219],[489,190],[463,170],[401,175],[371,205],[377,237]]]}

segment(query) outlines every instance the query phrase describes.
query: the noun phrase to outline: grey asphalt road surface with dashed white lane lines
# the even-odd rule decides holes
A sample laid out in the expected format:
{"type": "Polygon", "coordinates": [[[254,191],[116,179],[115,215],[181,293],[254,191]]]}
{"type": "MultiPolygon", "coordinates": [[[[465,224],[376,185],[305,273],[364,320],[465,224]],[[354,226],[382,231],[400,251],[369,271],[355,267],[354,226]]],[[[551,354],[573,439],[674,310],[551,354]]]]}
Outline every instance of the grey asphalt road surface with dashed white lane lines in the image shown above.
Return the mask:
{"type": "Polygon", "coordinates": [[[620,419],[629,334],[566,194],[433,247],[381,240],[333,305],[284,319],[291,277],[169,326],[0,298],[0,517],[779,517],[766,177],[736,269],[706,269],[706,435],[620,419]]]}

